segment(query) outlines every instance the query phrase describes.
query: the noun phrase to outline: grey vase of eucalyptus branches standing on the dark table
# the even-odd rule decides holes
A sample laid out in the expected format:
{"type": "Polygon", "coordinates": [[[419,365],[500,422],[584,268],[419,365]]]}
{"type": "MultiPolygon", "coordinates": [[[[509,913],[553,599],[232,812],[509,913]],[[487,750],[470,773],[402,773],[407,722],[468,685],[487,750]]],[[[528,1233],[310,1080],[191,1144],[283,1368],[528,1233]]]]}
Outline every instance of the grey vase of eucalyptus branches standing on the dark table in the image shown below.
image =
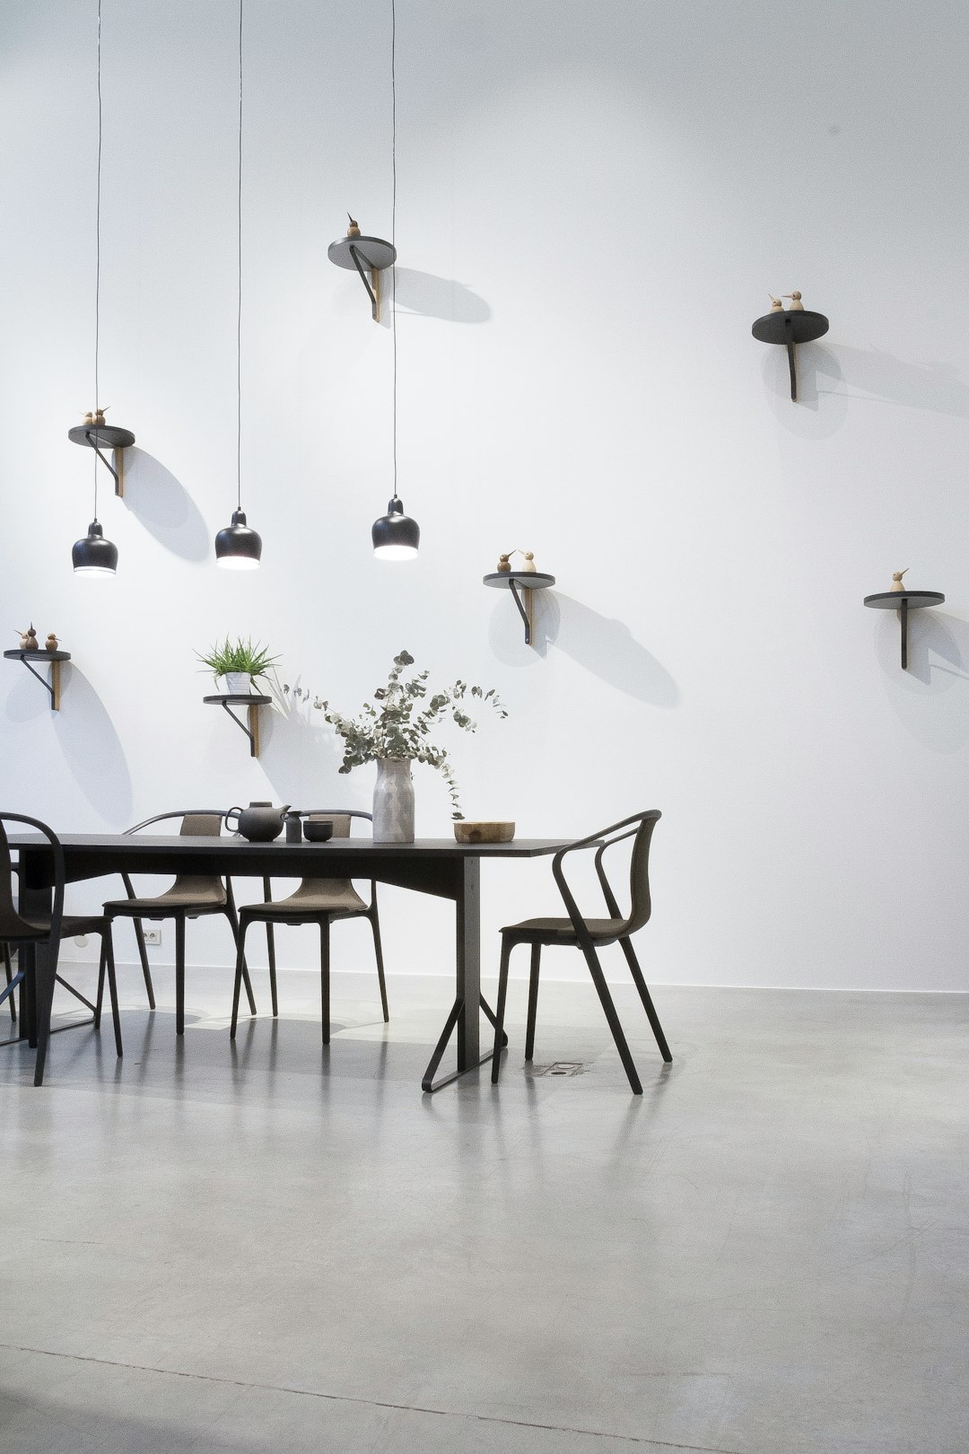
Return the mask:
{"type": "Polygon", "coordinates": [[[430,692],[429,672],[404,680],[404,667],[413,664],[414,657],[408,651],[398,653],[386,685],[373,692],[376,705],[365,702],[359,717],[343,717],[320,698],[312,704],[343,737],[340,772],[350,772],[365,762],[376,763],[375,843],[414,842],[411,762],[424,762],[440,772],[450,792],[452,817],[463,817],[447,749],[436,746],[431,734],[447,717],[462,731],[475,731],[478,724],[465,710],[469,696],[487,702],[498,717],[508,715],[494,688],[485,692],[481,686],[458,680],[443,691],[430,692]]]}

